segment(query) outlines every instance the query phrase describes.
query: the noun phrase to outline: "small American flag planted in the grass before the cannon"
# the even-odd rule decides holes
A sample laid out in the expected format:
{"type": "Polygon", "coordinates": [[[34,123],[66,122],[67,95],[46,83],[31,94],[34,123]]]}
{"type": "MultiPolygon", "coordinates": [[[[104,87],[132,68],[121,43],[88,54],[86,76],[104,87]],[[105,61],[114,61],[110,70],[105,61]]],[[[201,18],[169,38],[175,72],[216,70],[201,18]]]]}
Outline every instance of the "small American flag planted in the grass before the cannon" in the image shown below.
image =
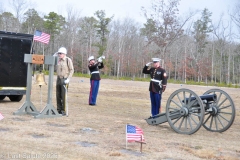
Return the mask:
{"type": "Polygon", "coordinates": [[[133,125],[126,125],[127,142],[144,141],[143,131],[141,128],[133,125]]]}

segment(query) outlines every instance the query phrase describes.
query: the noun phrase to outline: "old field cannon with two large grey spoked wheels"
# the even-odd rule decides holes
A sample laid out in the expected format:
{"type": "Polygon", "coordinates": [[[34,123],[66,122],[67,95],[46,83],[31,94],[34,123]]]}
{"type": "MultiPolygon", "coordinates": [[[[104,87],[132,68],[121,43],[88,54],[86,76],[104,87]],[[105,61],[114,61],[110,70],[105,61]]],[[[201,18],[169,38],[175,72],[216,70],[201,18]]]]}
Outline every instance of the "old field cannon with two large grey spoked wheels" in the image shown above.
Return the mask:
{"type": "Polygon", "coordinates": [[[180,134],[193,134],[201,126],[211,132],[224,132],[235,119],[232,98],[223,90],[210,89],[202,96],[181,88],[167,100],[166,113],[145,119],[149,125],[168,122],[180,134]]]}

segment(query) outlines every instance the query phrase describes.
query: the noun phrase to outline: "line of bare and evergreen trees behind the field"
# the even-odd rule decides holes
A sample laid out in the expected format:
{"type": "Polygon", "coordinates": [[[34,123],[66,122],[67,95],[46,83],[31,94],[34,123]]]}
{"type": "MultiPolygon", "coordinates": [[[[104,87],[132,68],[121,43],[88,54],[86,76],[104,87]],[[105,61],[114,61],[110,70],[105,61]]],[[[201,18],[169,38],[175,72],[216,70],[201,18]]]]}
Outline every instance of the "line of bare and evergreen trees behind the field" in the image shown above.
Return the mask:
{"type": "Polygon", "coordinates": [[[240,84],[239,2],[228,20],[222,15],[213,23],[207,8],[179,15],[180,0],[152,0],[151,9],[141,8],[144,24],[131,18],[115,20],[104,10],[86,17],[68,6],[64,17],[41,14],[25,0],[10,2],[14,12],[0,7],[0,30],[34,34],[38,29],[50,34],[48,45],[34,42],[35,53],[53,55],[64,46],[75,72],[88,73],[87,58],[105,55],[102,74],[142,78],[143,66],[159,57],[170,79],[240,84]]]}

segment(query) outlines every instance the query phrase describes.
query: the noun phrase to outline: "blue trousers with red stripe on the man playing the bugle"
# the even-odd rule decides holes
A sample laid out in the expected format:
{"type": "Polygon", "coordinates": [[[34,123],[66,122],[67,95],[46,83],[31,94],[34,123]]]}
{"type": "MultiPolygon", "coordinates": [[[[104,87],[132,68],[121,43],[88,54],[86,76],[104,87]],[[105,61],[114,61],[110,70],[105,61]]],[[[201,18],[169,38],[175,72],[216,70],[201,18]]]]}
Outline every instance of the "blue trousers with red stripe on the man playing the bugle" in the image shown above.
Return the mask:
{"type": "Polygon", "coordinates": [[[100,84],[99,80],[90,80],[91,88],[88,102],[90,105],[96,105],[99,84],[100,84]]]}

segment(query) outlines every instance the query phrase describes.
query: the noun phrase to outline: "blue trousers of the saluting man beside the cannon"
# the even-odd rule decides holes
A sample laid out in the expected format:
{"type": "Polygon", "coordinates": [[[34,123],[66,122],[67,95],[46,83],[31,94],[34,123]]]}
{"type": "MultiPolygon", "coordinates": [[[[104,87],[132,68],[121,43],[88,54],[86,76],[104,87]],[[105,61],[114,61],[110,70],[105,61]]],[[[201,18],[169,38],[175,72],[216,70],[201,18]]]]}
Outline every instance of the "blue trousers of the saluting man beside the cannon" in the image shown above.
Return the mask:
{"type": "Polygon", "coordinates": [[[150,92],[152,117],[159,114],[162,94],[150,92]]]}

